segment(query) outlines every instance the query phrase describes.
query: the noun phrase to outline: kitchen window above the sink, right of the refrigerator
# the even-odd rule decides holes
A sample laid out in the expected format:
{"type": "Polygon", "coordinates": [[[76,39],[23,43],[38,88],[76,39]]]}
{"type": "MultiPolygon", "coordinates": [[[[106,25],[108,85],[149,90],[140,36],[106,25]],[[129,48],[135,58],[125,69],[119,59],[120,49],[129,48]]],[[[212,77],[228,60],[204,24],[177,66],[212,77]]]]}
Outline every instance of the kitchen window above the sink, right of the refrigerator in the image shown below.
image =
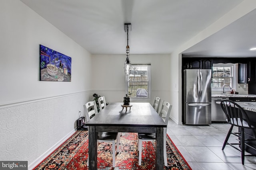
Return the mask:
{"type": "MultiPolygon", "coordinates": [[[[223,90],[223,85],[228,84],[235,89],[235,64],[213,64],[212,67],[212,90],[223,90]]],[[[228,86],[225,88],[229,89],[228,86]]]]}

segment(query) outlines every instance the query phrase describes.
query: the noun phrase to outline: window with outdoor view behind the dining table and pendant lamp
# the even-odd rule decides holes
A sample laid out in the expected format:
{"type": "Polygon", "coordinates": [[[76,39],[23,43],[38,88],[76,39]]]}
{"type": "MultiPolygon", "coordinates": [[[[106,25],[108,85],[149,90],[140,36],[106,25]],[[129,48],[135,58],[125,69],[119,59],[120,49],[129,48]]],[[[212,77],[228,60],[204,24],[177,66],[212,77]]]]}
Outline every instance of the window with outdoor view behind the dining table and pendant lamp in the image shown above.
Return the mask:
{"type": "Polygon", "coordinates": [[[132,99],[150,99],[150,64],[132,64],[132,71],[126,76],[126,93],[132,99]]]}

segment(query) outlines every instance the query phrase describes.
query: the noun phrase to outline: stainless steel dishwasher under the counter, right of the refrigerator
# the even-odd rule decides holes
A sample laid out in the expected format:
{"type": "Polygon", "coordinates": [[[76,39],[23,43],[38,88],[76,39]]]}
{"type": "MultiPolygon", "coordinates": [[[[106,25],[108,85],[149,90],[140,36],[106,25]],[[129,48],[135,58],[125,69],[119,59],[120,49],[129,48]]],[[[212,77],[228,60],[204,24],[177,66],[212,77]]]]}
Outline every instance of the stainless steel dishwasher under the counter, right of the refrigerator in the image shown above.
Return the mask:
{"type": "Polygon", "coordinates": [[[216,102],[220,102],[228,98],[212,98],[212,121],[218,122],[226,122],[226,115],[222,110],[220,104],[216,104],[216,102]]]}

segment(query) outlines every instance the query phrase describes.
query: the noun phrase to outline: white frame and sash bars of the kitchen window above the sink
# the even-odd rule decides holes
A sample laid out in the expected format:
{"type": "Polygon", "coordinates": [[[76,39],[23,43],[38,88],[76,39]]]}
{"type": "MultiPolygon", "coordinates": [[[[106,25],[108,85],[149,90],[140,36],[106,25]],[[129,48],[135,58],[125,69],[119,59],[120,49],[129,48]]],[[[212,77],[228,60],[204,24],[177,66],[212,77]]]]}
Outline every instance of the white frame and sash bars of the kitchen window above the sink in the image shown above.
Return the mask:
{"type": "MultiPolygon", "coordinates": [[[[213,74],[213,67],[228,67],[230,66],[231,67],[231,70],[230,70],[230,73],[233,74],[233,76],[230,76],[231,79],[232,79],[232,89],[236,90],[236,77],[237,77],[237,72],[236,72],[236,64],[234,63],[218,63],[218,64],[213,64],[212,65],[212,74],[213,74]]],[[[213,78],[213,76],[212,76],[213,78]]],[[[227,78],[227,77],[224,77],[223,78],[227,78]]],[[[212,81],[213,82],[213,81],[212,81]]],[[[219,88],[214,88],[212,87],[211,85],[211,88],[212,88],[212,91],[223,91],[223,87],[219,87],[219,88]]],[[[228,86],[225,86],[224,88],[225,91],[231,91],[230,88],[228,86]]]]}

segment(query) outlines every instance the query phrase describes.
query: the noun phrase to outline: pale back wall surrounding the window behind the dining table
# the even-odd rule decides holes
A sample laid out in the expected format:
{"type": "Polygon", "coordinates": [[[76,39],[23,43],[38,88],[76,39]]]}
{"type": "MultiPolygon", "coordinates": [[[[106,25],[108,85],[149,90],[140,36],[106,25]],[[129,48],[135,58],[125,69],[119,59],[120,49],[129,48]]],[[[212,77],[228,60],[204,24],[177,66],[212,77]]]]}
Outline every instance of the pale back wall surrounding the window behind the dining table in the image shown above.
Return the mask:
{"type": "MultiPolygon", "coordinates": [[[[92,56],[92,88],[100,96],[105,96],[107,102],[122,102],[125,96],[125,75],[123,55],[93,55],[92,56]]],[[[171,102],[170,96],[170,55],[132,55],[132,63],[151,63],[152,103],[154,96],[171,102]]],[[[131,101],[132,102],[132,101],[131,101]]]]}

